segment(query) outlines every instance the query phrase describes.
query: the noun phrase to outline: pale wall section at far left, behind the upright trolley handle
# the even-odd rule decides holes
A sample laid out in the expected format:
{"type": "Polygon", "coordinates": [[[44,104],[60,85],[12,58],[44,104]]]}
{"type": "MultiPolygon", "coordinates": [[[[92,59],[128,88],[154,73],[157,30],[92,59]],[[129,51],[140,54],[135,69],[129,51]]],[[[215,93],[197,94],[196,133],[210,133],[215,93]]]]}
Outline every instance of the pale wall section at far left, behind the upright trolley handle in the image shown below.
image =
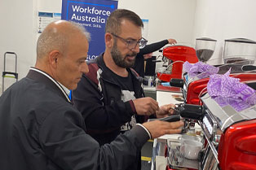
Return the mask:
{"type": "MultiPolygon", "coordinates": [[[[26,76],[29,67],[35,62],[36,23],[34,0],[0,0],[0,72],[3,72],[3,54],[7,51],[18,55],[17,72],[20,78],[26,76]]],[[[14,57],[7,56],[7,71],[15,71],[14,57]]],[[[1,78],[2,79],[2,78],[1,78]]],[[[5,87],[14,79],[5,78],[5,87]]],[[[2,80],[0,84],[2,94],[2,80]]]]}

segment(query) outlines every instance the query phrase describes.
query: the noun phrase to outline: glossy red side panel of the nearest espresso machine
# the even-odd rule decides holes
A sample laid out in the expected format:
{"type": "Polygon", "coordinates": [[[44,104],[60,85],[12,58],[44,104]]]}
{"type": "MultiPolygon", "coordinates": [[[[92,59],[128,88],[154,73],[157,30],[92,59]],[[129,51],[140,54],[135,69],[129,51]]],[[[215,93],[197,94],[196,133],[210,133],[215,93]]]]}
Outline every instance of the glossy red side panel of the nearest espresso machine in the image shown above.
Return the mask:
{"type": "Polygon", "coordinates": [[[256,169],[256,120],[233,124],[222,134],[218,145],[221,169],[256,169]]]}

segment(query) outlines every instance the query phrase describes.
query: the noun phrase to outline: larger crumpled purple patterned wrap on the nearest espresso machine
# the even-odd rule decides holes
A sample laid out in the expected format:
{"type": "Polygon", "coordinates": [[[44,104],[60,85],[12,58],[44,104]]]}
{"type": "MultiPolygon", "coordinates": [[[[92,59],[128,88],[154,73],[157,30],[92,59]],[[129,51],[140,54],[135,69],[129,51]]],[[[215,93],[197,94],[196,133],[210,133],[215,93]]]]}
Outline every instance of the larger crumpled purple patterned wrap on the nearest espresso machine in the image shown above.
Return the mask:
{"type": "Polygon", "coordinates": [[[242,111],[256,104],[256,90],[240,82],[240,79],[224,75],[210,76],[207,91],[221,107],[231,105],[236,111],[242,111]]]}

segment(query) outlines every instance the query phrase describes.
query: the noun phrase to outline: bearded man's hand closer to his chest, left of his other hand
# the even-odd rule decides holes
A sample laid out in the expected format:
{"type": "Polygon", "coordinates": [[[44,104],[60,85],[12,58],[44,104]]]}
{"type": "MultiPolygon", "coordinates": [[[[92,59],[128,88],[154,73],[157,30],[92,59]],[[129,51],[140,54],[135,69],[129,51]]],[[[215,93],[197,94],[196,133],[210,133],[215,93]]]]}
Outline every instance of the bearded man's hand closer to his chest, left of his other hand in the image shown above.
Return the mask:
{"type": "Polygon", "coordinates": [[[137,98],[133,100],[138,115],[150,116],[159,109],[158,102],[153,98],[137,98]]]}

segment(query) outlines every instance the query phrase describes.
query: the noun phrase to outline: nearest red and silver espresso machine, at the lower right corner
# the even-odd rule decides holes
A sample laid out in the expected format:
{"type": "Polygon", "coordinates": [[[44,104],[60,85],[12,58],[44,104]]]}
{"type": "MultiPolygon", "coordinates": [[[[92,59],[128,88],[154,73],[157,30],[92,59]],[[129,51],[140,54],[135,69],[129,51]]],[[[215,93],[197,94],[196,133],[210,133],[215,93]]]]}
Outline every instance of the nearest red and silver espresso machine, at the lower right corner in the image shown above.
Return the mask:
{"type": "MultiPolygon", "coordinates": [[[[256,89],[256,81],[246,84],[256,89]]],[[[230,105],[220,107],[209,94],[202,96],[201,102],[202,106],[184,103],[175,108],[175,114],[200,124],[201,152],[197,159],[188,159],[179,140],[168,140],[166,169],[256,169],[256,105],[236,111],[230,105]]]]}

